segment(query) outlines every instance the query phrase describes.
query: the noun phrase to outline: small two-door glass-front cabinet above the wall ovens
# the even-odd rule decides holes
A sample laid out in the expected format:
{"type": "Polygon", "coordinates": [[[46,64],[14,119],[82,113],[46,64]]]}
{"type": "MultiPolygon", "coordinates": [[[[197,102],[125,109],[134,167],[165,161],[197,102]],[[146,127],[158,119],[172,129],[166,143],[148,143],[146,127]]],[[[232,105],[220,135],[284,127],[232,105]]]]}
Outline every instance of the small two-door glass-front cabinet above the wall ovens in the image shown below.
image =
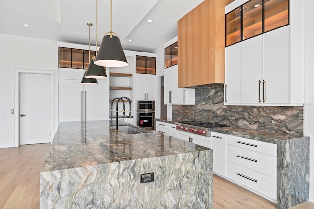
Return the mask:
{"type": "Polygon", "coordinates": [[[136,56],[136,73],[156,74],[156,58],[136,56]]]}

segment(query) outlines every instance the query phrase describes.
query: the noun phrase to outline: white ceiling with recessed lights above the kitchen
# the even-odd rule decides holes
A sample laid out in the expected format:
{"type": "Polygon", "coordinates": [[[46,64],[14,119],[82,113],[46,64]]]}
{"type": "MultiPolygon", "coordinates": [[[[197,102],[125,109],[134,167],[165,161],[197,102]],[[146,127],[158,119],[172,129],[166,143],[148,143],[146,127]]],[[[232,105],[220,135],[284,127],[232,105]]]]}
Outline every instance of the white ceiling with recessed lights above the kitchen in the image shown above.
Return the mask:
{"type": "MultiPolygon", "coordinates": [[[[202,1],[113,0],[112,32],[124,49],[152,52],[177,35],[177,21],[202,1]]],[[[99,46],[110,31],[110,0],[0,0],[0,32],[88,45],[91,22],[91,45],[96,45],[96,2],[99,46]]]]}

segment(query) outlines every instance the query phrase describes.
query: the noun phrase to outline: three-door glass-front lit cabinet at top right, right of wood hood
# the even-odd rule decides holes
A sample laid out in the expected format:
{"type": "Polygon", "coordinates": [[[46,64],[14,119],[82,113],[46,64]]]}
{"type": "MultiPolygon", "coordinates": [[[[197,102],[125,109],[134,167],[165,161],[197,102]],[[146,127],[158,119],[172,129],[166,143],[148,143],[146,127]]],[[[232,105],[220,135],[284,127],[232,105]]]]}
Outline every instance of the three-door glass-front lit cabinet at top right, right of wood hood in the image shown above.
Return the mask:
{"type": "Polygon", "coordinates": [[[250,0],[226,14],[226,46],[289,24],[289,0],[250,0]]]}

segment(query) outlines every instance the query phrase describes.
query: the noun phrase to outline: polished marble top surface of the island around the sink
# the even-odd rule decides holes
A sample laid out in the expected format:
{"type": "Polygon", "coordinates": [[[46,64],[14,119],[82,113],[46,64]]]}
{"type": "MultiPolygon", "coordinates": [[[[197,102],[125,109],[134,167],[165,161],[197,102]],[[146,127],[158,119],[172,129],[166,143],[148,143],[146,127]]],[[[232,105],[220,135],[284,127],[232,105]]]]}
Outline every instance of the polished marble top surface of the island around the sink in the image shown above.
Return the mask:
{"type": "MultiPolygon", "coordinates": [[[[127,123],[119,121],[119,124],[127,123]]],[[[61,122],[41,172],[209,150],[156,131],[146,131],[128,135],[110,129],[109,120],[61,122]]]]}

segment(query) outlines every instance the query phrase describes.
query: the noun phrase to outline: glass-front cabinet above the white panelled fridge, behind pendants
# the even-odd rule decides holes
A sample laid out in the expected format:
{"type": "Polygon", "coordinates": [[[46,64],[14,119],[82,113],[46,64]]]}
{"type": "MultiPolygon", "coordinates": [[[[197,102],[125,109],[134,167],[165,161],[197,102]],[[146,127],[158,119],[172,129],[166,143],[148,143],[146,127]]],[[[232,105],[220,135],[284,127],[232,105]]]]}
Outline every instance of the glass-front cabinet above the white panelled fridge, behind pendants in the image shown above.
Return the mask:
{"type": "Polygon", "coordinates": [[[96,51],[90,51],[89,56],[89,50],[59,47],[59,67],[87,69],[89,57],[92,58],[95,54],[96,51]]]}

